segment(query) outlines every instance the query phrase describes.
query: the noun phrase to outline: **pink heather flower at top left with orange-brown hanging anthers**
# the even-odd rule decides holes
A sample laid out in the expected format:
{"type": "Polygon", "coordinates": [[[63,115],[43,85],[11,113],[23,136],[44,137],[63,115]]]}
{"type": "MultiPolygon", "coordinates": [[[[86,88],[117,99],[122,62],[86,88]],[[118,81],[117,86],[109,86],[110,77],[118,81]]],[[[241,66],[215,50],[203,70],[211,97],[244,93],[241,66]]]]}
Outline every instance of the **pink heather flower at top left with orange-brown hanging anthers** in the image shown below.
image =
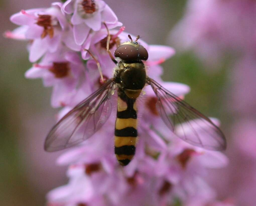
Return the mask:
{"type": "Polygon", "coordinates": [[[79,51],[80,47],[70,36],[71,26],[57,5],[50,8],[22,10],[10,17],[10,20],[21,25],[20,29],[5,36],[14,39],[33,40],[29,47],[29,61],[35,62],[46,52],[54,53],[64,42],[70,49],[79,51]],[[18,33],[17,33],[18,32],[18,33]]]}

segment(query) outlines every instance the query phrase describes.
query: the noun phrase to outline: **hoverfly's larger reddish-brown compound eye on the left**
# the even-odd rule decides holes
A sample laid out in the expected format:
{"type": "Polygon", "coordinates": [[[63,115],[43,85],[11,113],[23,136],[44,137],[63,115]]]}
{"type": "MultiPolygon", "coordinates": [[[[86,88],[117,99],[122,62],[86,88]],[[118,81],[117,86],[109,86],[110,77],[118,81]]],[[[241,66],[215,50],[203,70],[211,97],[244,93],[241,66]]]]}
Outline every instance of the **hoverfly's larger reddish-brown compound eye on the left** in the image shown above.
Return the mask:
{"type": "Polygon", "coordinates": [[[124,61],[136,61],[138,59],[138,49],[130,44],[123,44],[115,50],[115,57],[124,61]]]}

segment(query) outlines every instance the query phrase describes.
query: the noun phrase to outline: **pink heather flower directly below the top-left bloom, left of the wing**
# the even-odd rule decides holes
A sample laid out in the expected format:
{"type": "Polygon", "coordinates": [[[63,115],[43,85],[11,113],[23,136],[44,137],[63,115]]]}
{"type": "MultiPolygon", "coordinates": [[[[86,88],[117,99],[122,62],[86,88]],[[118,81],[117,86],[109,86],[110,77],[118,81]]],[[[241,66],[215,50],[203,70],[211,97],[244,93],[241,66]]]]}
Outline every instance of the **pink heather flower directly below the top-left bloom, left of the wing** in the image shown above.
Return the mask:
{"type": "Polygon", "coordinates": [[[55,53],[46,53],[39,64],[34,64],[26,73],[27,78],[42,78],[44,86],[53,86],[52,107],[66,105],[78,85],[84,66],[75,52],[60,48],[55,53]]]}

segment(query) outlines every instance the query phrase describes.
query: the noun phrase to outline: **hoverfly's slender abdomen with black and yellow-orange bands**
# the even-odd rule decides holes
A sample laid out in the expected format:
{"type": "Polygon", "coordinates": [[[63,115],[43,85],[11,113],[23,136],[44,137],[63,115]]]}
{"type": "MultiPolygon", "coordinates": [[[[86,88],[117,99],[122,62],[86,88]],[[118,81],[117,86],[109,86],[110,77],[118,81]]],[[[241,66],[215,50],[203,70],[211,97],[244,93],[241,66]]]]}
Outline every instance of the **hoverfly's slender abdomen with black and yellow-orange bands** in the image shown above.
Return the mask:
{"type": "Polygon", "coordinates": [[[115,122],[115,155],[118,162],[128,165],[135,154],[137,142],[136,98],[119,95],[115,122]]]}

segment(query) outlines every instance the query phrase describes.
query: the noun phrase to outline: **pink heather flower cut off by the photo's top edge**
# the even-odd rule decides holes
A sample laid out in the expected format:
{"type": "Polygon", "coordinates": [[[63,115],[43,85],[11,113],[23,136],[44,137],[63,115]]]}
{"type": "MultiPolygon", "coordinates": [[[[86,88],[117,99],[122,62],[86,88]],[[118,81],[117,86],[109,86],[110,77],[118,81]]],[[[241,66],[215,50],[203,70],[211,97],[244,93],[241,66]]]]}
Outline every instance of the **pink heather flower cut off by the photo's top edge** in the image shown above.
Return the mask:
{"type": "Polygon", "coordinates": [[[99,31],[102,22],[110,29],[122,25],[112,9],[101,0],[68,0],[63,4],[63,10],[73,14],[71,23],[75,41],[79,45],[83,44],[91,29],[99,31]]]}

